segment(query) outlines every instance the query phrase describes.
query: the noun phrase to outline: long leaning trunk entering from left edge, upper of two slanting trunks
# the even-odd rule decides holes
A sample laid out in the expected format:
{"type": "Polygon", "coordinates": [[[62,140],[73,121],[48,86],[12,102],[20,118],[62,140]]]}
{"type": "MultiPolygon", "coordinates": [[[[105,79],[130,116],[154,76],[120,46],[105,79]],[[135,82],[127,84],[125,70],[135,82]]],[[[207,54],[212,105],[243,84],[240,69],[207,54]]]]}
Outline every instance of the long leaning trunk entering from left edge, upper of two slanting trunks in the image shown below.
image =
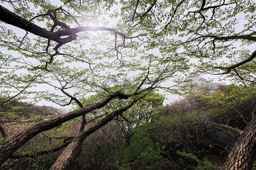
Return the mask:
{"type": "Polygon", "coordinates": [[[29,126],[26,129],[19,131],[15,135],[8,138],[6,141],[0,143],[0,165],[3,164],[5,160],[7,160],[8,157],[10,157],[10,155],[12,155],[17,149],[19,149],[20,146],[24,145],[38,133],[50,130],[53,127],[60,125],[61,123],[82,116],[88,112],[92,112],[97,108],[101,108],[115,97],[128,98],[129,96],[121,92],[114,92],[100,102],[94,103],[73,112],[68,112],[58,117],[54,117],[50,120],[40,121],[35,125],[29,126]]]}

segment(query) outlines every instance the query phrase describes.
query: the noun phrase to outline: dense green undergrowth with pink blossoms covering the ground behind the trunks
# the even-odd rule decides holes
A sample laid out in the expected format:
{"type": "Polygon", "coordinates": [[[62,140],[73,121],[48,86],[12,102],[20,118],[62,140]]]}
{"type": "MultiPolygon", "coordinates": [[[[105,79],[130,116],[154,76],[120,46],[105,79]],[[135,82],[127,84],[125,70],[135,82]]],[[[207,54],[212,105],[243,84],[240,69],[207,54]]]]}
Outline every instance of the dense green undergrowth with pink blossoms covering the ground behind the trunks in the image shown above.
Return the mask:
{"type": "MultiPolygon", "coordinates": [[[[125,116],[133,112],[133,117],[127,117],[126,121],[117,118],[87,137],[72,169],[218,170],[239,134],[207,121],[243,130],[251,119],[255,99],[253,86],[221,84],[216,89],[205,87],[188,92],[185,98],[167,106],[163,106],[163,95],[152,93],[124,113],[125,116]],[[199,116],[200,111],[204,112],[199,116]]],[[[82,99],[87,104],[95,102],[93,100],[100,98],[93,95],[82,99]]],[[[100,114],[92,112],[91,115],[100,114]]],[[[42,151],[62,146],[61,141],[65,143],[79,131],[81,122],[79,118],[73,119],[37,135],[12,155],[2,169],[49,169],[62,148],[51,153],[42,151]]],[[[34,122],[4,123],[3,127],[10,136],[31,123],[34,122]]],[[[90,122],[85,129],[94,123],[90,122]]]]}

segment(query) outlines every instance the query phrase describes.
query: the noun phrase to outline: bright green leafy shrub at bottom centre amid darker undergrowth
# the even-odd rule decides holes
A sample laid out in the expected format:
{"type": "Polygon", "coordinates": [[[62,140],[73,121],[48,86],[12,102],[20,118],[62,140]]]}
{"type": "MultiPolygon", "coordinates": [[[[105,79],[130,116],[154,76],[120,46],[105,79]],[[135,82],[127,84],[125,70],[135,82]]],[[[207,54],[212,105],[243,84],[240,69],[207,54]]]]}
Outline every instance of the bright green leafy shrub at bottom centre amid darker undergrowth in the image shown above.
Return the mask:
{"type": "Polygon", "coordinates": [[[130,146],[122,154],[122,167],[130,164],[139,169],[158,170],[171,166],[171,162],[162,156],[165,146],[152,140],[153,128],[153,124],[145,123],[134,129],[130,146]]]}

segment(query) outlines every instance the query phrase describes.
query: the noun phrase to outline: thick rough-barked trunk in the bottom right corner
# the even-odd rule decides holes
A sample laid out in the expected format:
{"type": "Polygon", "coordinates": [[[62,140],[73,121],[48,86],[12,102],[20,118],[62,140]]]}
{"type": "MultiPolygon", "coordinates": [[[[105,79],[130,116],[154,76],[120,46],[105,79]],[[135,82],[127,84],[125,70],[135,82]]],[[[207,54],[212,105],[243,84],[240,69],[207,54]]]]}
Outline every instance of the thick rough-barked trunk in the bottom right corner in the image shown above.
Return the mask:
{"type": "Polygon", "coordinates": [[[256,117],[241,133],[220,170],[251,170],[256,156],[256,117]]]}

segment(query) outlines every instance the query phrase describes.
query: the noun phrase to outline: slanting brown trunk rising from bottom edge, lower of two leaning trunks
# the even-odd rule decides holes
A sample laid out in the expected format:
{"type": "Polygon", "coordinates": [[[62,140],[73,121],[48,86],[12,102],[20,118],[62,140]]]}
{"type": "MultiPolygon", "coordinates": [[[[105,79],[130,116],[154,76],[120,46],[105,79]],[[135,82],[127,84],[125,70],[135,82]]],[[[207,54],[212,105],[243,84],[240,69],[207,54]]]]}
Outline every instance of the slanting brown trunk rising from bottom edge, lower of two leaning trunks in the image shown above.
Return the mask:
{"type": "Polygon", "coordinates": [[[82,142],[87,138],[87,136],[91,135],[102,126],[105,126],[109,121],[112,121],[114,117],[127,111],[128,108],[132,107],[133,104],[137,101],[138,100],[135,100],[127,107],[123,107],[112,112],[107,117],[104,117],[101,121],[97,122],[97,124],[90,127],[87,131],[79,133],[74,141],[72,141],[72,143],[70,143],[67,148],[61,153],[55,163],[51,166],[50,170],[69,170],[70,166],[73,164],[73,161],[80,155],[80,152],[82,150],[82,142]]]}

